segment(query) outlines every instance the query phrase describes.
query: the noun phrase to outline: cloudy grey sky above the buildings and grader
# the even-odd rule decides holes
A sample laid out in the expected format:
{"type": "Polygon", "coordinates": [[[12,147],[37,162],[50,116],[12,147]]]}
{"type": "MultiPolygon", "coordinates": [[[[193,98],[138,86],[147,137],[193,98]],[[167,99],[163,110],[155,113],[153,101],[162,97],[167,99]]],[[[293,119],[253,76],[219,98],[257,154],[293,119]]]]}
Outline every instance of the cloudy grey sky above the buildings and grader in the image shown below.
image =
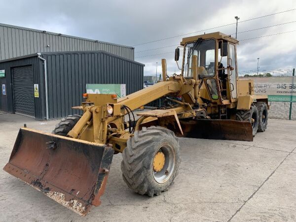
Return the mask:
{"type": "Polygon", "coordinates": [[[135,60],[146,65],[145,75],[155,75],[162,58],[169,74],[178,73],[176,46],[170,45],[204,32],[235,36],[235,24],[207,29],[235,23],[238,16],[239,40],[289,32],[238,45],[240,71],[257,70],[258,57],[259,69],[276,70],[296,67],[296,10],[291,9],[296,9],[295,0],[1,0],[0,23],[134,46],[135,60]],[[244,32],[249,30],[254,31],[244,32]],[[163,38],[168,39],[154,41],[163,38]],[[149,41],[154,42],[142,44],[149,41]]]}

